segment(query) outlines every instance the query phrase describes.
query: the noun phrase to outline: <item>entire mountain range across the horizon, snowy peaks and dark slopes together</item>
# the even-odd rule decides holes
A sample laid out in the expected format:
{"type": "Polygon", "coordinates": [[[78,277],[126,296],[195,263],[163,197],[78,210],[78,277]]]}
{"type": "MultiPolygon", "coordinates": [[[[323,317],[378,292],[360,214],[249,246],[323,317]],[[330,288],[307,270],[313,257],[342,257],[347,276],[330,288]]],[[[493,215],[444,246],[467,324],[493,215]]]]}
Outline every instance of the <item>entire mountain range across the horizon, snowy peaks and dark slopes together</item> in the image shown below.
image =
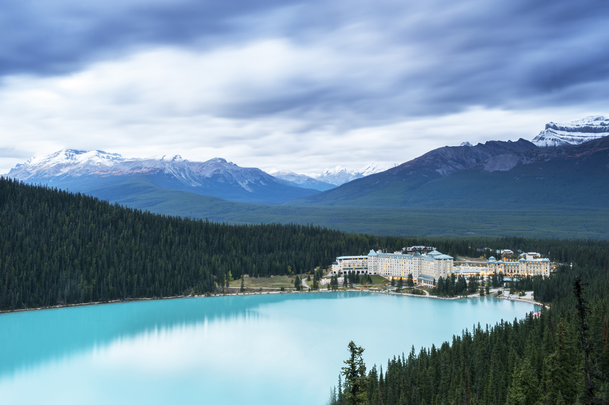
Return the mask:
{"type": "Polygon", "coordinates": [[[551,122],[542,133],[552,130],[552,139],[562,136],[558,145],[547,141],[549,135],[544,141],[541,134],[535,142],[464,142],[431,150],[400,165],[370,164],[352,171],[337,166],[314,175],[316,178],[287,170],[268,174],[223,158],[189,161],[174,155],[141,159],[71,149],[33,157],[8,175],[158,213],[204,217],[213,211],[215,219],[238,217],[242,222],[250,222],[250,214],[252,220],[268,222],[297,218],[278,213],[289,208],[297,215],[305,212],[303,206],[308,206],[308,219],[323,218],[325,224],[347,213],[351,221],[365,216],[373,224],[381,207],[383,220],[392,208],[396,213],[407,208],[604,210],[609,207],[609,136],[602,136],[607,134],[606,122],[603,116],[568,125],[551,122]]]}

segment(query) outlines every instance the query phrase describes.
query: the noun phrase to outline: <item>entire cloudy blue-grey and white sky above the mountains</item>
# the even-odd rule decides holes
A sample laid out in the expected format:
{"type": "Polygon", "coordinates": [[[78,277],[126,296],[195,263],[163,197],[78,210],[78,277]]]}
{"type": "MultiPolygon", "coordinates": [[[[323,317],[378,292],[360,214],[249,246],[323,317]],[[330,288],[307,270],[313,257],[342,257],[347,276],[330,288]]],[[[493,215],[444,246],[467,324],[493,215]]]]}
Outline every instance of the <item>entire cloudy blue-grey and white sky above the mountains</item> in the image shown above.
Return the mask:
{"type": "Polygon", "coordinates": [[[7,0],[0,173],[62,148],[319,172],[609,114],[607,0],[7,0]]]}

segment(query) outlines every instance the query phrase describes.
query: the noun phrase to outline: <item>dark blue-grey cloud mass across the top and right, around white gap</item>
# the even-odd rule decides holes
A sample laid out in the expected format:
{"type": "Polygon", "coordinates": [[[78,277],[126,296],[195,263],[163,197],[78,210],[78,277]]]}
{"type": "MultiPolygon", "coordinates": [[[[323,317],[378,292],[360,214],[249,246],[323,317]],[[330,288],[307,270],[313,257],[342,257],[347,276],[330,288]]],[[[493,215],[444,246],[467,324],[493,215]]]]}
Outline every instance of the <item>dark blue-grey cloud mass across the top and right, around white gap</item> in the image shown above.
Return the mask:
{"type": "MultiPolygon", "coordinates": [[[[0,74],[51,74],[132,49],[283,38],[329,46],[339,74],[219,105],[232,118],[334,114],[363,121],[471,106],[595,104],[609,94],[609,2],[106,1],[5,3],[0,74]],[[339,69],[340,70],[340,69],[339,69]]],[[[312,61],[315,62],[315,61],[312,61]]],[[[316,68],[315,63],[311,69],[316,68]]]]}

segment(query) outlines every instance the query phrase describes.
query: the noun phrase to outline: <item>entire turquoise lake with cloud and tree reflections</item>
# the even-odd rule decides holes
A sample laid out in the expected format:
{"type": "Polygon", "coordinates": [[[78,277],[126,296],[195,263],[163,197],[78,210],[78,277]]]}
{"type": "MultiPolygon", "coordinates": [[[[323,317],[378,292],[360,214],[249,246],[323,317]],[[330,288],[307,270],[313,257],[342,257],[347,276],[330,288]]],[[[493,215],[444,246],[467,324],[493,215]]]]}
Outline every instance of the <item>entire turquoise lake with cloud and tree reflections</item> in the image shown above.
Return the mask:
{"type": "Polygon", "coordinates": [[[149,300],[0,315],[2,404],[325,404],[347,343],[367,365],[528,303],[336,292],[149,300]]]}

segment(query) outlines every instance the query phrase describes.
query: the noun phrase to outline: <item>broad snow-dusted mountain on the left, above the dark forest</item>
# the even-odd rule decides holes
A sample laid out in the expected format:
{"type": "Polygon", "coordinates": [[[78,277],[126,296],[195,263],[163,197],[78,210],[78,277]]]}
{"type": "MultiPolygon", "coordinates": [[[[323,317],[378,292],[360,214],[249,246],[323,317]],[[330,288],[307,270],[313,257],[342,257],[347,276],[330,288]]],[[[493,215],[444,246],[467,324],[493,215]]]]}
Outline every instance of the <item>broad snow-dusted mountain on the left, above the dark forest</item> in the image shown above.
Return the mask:
{"type": "MultiPolygon", "coordinates": [[[[317,192],[280,180],[256,167],[240,167],[223,158],[189,161],[180,155],[124,158],[102,150],[60,150],[33,157],[11,169],[9,177],[47,183],[70,191],[113,187],[127,178],[145,178],[164,189],[190,191],[238,202],[281,203],[317,192]]],[[[95,194],[97,195],[97,194],[95,194]]]]}

